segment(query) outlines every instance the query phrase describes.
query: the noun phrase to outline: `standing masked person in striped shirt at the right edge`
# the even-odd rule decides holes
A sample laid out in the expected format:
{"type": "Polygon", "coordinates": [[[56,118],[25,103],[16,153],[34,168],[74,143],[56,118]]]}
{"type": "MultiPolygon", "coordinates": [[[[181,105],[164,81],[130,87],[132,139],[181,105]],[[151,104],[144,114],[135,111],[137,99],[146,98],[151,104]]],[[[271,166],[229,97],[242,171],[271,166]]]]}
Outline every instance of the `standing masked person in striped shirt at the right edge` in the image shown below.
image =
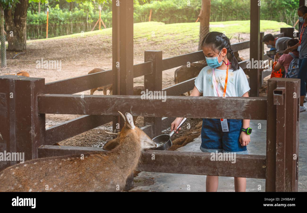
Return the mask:
{"type": "Polygon", "coordinates": [[[301,6],[297,10],[297,15],[300,21],[299,26],[299,40],[296,45],[289,47],[284,51],[285,54],[292,52],[297,49],[299,51],[299,67],[300,71],[298,72],[297,78],[301,79],[301,97],[300,97],[300,112],[307,110],[304,106],[304,100],[306,96],[306,75],[307,75],[307,7],[301,6]]]}

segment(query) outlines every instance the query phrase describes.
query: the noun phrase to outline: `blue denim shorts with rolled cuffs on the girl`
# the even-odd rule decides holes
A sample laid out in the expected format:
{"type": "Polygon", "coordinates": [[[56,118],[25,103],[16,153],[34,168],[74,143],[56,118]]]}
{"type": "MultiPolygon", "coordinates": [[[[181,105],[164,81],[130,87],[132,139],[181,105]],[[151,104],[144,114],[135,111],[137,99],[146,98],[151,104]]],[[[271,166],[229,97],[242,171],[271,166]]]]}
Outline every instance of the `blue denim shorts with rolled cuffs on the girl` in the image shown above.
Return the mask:
{"type": "Polygon", "coordinates": [[[201,129],[202,152],[234,152],[240,155],[248,155],[246,146],[239,142],[243,120],[227,119],[229,132],[222,131],[220,119],[203,119],[201,129]]]}

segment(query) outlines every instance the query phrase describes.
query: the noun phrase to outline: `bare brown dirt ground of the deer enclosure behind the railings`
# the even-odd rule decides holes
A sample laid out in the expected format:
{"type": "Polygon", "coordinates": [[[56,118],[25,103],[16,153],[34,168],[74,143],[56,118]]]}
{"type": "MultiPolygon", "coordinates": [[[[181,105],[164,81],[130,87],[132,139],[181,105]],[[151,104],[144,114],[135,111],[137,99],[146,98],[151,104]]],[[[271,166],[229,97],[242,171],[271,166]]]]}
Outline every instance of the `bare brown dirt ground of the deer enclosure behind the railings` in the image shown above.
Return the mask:
{"type": "MultiPolygon", "coordinates": [[[[269,32],[266,32],[269,33],[269,32]]],[[[249,40],[249,34],[240,34],[240,41],[249,40]]],[[[236,43],[237,38],[231,38],[232,43],[236,43]]],[[[165,41],[167,42],[167,41],[165,41]]],[[[197,45],[193,43],[185,44],[191,47],[190,52],[197,51],[197,45]]],[[[147,49],[163,50],[163,44],[155,44],[150,46],[134,45],[134,64],[144,62],[144,51],[147,49]]],[[[265,49],[266,50],[266,49],[265,49]]],[[[244,60],[249,58],[250,49],[239,51],[240,57],[244,60]]],[[[16,53],[7,52],[7,68],[0,69],[0,75],[5,73],[15,74],[19,71],[26,71],[30,77],[45,78],[45,83],[58,81],[66,78],[86,75],[91,69],[111,69],[112,66],[112,39],[101,35],[94,35],[91,37],[80,38],[63,38],[47,41],[32,41],[27,45],[25,54],[18,55],[12,59],[16,53]],[[103,40],[103,41],[102,41],[103,40]],[[37,69],[37,60],[61,60],[62,68],[60,71],[56,69],[37,69]]],[[[163,52],[163,58],[181,55],[178,49],[167,49],[163,52]]],[[[174,72],[177,68],[169,69],[163,72],[163,88],[174,84],[174,72]]],[[[134,79],[134,86],[144,84],[144,77],[134,79]]],[[[90,91],[84,91],[84,94],[90,94],[90,91]]],[[[266,91],[263,89],[261,96],[265,96],[266,91]]],[[[102,91],[96,91],[95,95],[102,95],[102,91]]],[[[78,117],[79,115],[61,115],[61,114],[47,114],[46,126],[47,128],[53,125],[60,124],[78,117]]],[[[183,128],[180,134],[173,136],[174,145],[172,150],[191,142],[195,137],[200,135],[199,124],[201,119],[188,119],[191,123],[191,129],[183,128]],[[182,136],[177,140],[178,137],[182,136]]],[[[143,118],[139,117],[136,125],[142,127],[143,118]]],[[[67,140],[60,142],[61,145],[67,146],[92,146],[102,147],[111,136],[103,132],[112,131],[111,123],[105,124],[98,128],[84,132],[80,135],[74,136],[67,140]]],[[[165,132],[170,132],[166,130],[165,132]]]]}

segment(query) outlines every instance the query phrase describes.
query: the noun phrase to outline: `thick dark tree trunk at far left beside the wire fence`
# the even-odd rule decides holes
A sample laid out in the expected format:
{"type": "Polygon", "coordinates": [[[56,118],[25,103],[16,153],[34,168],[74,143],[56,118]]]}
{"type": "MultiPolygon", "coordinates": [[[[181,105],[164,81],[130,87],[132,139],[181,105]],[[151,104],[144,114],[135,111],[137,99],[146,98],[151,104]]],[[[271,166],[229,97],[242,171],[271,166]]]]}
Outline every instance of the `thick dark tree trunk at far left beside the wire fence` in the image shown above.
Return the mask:
{"type": "Polygon", "coordinates": [[[23,52],[27,47],[27,9],[29,0],[19,0],[14,11],[12,8],[4,10],[6,22],[8,51],[23,52]],[[13,35],[10,32],[13,31],[13,35]]]}

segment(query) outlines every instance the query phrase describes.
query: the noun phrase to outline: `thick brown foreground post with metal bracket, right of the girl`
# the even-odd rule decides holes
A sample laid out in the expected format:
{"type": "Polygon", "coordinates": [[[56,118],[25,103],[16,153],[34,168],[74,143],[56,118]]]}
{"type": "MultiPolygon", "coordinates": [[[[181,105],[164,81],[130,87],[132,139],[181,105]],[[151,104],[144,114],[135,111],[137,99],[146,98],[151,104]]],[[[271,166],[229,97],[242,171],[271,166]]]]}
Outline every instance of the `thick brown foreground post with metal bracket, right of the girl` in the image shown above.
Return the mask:
{"type": "Polygon", "coordinates": [[[266,191],[297,191],[300,80],[268,80],[266,191]]]}

